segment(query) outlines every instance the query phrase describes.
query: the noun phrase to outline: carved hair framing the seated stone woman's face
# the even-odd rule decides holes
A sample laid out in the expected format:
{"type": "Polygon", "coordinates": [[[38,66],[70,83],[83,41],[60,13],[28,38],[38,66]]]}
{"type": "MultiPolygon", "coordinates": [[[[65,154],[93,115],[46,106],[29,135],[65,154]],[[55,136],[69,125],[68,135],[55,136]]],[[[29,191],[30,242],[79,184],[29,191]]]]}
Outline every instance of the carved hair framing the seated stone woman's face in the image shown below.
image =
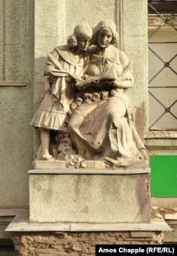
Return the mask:
{"type": "Polygon", "coordinates": [[[112,33],[110,44],[118,42],[119,36],[118,32],[116,31],[115,23],[107,19],[104,21],[100,21],[98,25],[95,28],[93,28],[93,37],[91,40],[91,43],[93,45],[98,45],[98,35],[99,33],[103,33],[103,30],[110,31],[110,33],[112,33]]]}

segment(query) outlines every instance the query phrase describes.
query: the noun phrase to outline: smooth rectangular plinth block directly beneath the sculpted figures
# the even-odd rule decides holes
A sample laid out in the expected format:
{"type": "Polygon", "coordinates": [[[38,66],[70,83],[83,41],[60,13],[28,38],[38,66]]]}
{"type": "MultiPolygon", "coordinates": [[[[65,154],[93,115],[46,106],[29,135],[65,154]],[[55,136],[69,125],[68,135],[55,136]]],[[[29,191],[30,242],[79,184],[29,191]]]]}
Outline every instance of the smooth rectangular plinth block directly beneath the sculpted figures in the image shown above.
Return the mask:
{"type": "Polygon", "coordinates": [[[149,223],[149,168],[35,169],[30,223],[149,223]]]}

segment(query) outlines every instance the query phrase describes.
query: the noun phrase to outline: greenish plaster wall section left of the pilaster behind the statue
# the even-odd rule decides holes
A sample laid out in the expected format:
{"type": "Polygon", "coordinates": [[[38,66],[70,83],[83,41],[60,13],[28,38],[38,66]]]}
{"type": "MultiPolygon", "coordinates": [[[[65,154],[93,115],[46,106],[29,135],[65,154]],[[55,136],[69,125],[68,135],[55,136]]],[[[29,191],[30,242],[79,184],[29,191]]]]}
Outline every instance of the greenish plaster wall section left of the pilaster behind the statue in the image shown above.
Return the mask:
{"type": "Polygon", "coordinates": [[[29,125],[33,117],[33,1],[0,0],[0,5],[4,70],[0,72],[0,208],[27,208],[27,171],[34,143],[29,125]],[[4,86],[7,82],[26,86],[4,86]]]}

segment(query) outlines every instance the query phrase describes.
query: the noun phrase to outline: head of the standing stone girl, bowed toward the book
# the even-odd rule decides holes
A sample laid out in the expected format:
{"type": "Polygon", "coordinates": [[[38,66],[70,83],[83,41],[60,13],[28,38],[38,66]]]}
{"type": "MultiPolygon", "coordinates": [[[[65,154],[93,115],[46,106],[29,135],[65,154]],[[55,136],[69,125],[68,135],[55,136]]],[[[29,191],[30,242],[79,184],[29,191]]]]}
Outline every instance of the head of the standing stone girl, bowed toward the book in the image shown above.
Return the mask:
{"type": "Polygon", "coordinates": [[[69,36],[67,43],[70,48],[77,46],[79,50],[87,50],[92,36],[93,31],[91,26],[88,23],[81,23],[74,28],[74,33],[69,36]]]}

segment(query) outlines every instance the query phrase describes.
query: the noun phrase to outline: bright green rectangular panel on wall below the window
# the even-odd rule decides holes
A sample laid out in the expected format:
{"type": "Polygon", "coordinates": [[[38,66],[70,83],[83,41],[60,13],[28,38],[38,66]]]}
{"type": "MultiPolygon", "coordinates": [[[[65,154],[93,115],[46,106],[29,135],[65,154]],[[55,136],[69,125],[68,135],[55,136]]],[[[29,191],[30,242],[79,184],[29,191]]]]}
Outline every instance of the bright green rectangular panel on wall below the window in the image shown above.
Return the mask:
{"type": "Polygon", "coordinates": [[[151,196],[177,197],[177,156],[150,156],[151,196]]]}

